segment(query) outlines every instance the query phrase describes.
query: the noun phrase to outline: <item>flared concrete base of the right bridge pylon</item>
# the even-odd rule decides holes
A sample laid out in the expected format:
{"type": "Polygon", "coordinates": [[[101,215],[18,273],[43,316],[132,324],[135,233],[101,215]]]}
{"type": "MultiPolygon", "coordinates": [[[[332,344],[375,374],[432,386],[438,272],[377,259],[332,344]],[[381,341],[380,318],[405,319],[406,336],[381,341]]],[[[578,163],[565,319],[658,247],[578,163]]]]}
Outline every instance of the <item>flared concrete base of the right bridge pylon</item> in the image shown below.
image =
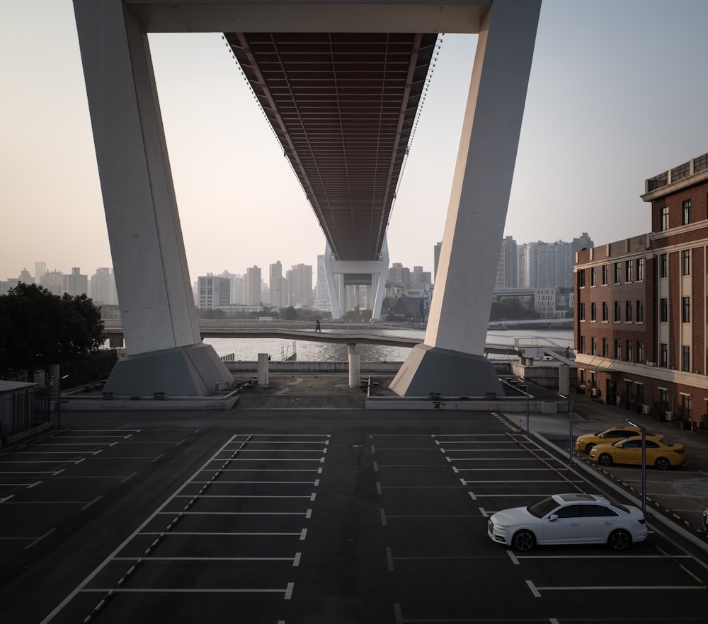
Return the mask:
{"type": "Polygon", "coordinates": [[[494,365],[472,355],[416,345],[389,388],[399,396],[503,396],[494,365]]]}

